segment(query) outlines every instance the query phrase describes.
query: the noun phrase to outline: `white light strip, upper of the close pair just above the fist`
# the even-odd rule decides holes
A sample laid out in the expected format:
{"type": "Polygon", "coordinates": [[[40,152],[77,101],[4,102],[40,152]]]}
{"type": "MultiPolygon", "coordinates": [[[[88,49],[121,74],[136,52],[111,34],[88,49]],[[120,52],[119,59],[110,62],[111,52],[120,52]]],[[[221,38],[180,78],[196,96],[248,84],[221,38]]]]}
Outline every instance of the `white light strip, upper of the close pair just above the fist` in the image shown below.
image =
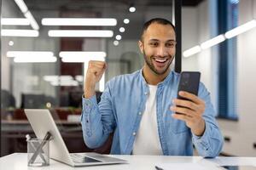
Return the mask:
{"type": "Polygon", "coordinates": [[[106,53],[102,51],[61,51],[60,57],[81,57],[81,58],[94,58],[94,57],[106,57],[106,53]]]}

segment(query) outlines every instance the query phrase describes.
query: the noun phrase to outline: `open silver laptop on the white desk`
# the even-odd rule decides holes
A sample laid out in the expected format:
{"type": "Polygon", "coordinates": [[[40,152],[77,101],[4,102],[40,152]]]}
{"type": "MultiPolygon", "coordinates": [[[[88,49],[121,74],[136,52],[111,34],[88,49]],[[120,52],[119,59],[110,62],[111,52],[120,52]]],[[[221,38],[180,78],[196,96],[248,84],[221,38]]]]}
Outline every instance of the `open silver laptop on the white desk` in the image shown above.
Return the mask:
{"type": "Polygon", "coordinates": [[[25,109],[24,111],[38,139],[44,139],[47,132],[51,133],[52,139],[49,141],[49,157],[51,159],[72,167],[127,163],[125,160],[94,152],[69,153],[49,110],[25,109]]]}

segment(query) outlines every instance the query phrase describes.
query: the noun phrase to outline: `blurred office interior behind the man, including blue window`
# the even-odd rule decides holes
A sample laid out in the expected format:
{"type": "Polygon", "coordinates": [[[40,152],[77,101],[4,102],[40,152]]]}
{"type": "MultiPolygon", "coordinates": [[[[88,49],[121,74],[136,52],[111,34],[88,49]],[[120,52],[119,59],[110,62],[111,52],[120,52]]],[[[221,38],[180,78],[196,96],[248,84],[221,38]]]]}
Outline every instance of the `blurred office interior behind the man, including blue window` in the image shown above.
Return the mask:
{"type": "MultiPolygon", "coordinates": [[[[26,122],[23,108],[49,108],[55,120],[59,122],[68,149],[89,150],[83,143],[78,122],[87,61],[85,64],[83,60],[65,61],[60,57],[60,52],[106,53],[103,59],[108,62],[108,71],[97,87],[97,94],[100,96],[105,82],[110,78],[142,67],[143,56],[137,47],[141,27],[146,20],[154,17],[172,20],[173,3],[165,0],[24,2],[38,23],[38,29],[31,23],[26,26],[12,26],[4,24],[4,20],[1,20],[1,156],[26,149],[24,134],[32,133],[32,130],[26,122]],[[135,12],[129,11],[131,6],[136,8],[135,12]],[[45,26],[41,22],[43,18],[54,17],[114,18],[117,25],[45,26]],[[125,19],[129,19],[129,23],[125,19]],[[120,30],[121,27],[125,31],[120,30]],[[9,29],[36,32],[38,30],[39,35],[9,36],[6,32],[9,29]],[[49,30],[111,30],[113,36],[49,37],[49,30]],[[28,63],[31,59],[19,62],[20,54],[10,53],[17,51],[50,52],[53,56],[49,58],[55,62],[28,63]],[[73,147],[74,145],[76,147],[73,147]]],[[[2,0],[1,12],[2,19],[27,17],[26,12],[22,13],[17,1],[14,0],[2,0]]],[[[256,80],[253,76],[256,74],[256,26],[236,37],[225,38],[212,47],[200,46],[203,42],[218,37],[236,26],[255,20],[256,1],[183,0],[181,14],[181,42],[184,52],[182,70],[201,71],[201,81],[212,94],[212,103],[224,133],[223,154],[256,156],[256,120],[253,115],[256,112],[256,80]],[[195,54],[185,53],[194,47],[197,47],[195,54]]],[[[88,58],[93,59],[91,55],[88,58]]],[[[99,151],[108,152],[108,147],[103,147],[99,151]]]]}

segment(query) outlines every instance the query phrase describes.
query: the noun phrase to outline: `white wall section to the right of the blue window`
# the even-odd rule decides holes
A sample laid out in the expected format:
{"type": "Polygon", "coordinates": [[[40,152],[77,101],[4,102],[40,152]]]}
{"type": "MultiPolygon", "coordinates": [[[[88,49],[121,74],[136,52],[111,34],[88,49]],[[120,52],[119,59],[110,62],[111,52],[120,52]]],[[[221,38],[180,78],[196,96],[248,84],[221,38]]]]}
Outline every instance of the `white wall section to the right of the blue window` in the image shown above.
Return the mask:
{"type": "MultiPolygon", "coordinates": [[[[253,19],[256,0],[240,0],[239,25],[253,19]],[[253,7],[253,8],[252,8],[253,7]]],[[[255,17],[255,16],[254,16],[255,17]]],[[[256,156],[256,28],[237,37],[237,103],[238,122],[219,121],[225,136],[224,152],[236,156],[256,156]]]]}

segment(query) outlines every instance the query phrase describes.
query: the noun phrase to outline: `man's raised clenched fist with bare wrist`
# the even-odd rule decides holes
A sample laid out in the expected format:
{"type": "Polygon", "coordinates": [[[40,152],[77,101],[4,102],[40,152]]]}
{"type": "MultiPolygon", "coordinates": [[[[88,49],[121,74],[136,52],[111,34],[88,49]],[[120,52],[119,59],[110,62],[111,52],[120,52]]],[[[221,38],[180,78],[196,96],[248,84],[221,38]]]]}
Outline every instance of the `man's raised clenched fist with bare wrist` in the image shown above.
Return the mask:
{"type": "Polygon", "coordinates": [[[107,63],[104,61],[90,60],[84,82],[84,98],[89,99],[95,94],[96,83],[102,78],[107,69],[107,63]]]}

